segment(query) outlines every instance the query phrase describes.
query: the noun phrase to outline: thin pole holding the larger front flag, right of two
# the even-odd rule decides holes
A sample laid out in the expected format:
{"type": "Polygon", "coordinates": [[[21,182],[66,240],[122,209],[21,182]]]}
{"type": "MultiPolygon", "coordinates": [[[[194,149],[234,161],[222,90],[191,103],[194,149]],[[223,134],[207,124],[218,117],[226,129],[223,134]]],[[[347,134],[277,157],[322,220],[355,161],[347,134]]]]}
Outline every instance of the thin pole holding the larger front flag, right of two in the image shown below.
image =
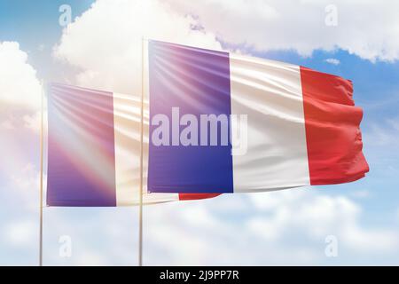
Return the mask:
{"type": "Polygon", "coordinates": [[[144,143],[144,60],[145,39],[141,40],[141,123],[140,123],[140,196],[138,209],[138,266],[143,266],[143,143],[144,143]]]}

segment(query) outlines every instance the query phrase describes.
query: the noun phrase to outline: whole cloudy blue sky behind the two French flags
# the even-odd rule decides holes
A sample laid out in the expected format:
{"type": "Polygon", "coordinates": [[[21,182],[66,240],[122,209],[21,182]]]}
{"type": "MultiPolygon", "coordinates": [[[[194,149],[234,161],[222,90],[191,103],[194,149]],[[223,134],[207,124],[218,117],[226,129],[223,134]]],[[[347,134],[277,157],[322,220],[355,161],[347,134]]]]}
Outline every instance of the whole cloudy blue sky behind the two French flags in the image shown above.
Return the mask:
{"type": "MultiPolygon", "coordinates": [[[[0,264],[38,263],[40,83],[139,94],[143,35],[351,79],[371,168],[346,185],[145,207],[145,264],[399,264],[398,9],[370,0],[0,0],[0,264]],[[72,9],[67,26],[62,4],[72,9]],[[328,236],[338,256],[326,256],[328,236]]],[[[137,264],[136,208],[43,212],[44,264],[137,264]],[[62,236],[70,257],[59,255],[62,236]]]]}

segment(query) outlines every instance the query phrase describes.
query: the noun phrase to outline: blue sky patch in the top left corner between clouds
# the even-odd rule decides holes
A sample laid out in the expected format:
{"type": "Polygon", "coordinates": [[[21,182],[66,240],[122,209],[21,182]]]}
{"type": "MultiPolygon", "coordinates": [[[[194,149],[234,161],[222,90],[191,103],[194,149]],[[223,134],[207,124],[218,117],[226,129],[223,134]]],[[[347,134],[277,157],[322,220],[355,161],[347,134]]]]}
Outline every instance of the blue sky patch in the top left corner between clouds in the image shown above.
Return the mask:
{"type": "Polygon", "coordinates": [[[23,51],[29,52],[32,65],[45,65],[36,68],[38,76],[49,78],[62,74],[52,67],[51,48],[57,43],[63,27],[59,26],[59,7],[62,4],[73,6],[72,17],[78,17],[90,8],[93,1],[37,1],[28,0],[0,2],[2,16],[0,35],[2,41],[16,41],[23,51]],[[43,51],[41,51],[43,46],[43,51]],[[54,74],[55,73],[55,74],[54,74]]]}

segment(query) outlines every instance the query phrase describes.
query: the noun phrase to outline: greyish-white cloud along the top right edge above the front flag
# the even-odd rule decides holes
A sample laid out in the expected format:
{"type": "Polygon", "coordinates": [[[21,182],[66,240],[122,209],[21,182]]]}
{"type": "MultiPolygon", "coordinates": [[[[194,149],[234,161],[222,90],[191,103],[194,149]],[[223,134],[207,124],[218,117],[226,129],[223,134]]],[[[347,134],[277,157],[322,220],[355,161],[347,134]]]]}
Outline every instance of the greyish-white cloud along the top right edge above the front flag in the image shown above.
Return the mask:
{"type": "Polygon", "coordinates": [[[257,51],[340,48],[363,59],[399,59],[399,3],[394,0],[333,1],[337,26],[325,25],[329,0],[170,0],[176,11],[196,15],[200,25],[232,44],[257,51]],[[370,15],[373,15],[370,17],[370,15]]]}

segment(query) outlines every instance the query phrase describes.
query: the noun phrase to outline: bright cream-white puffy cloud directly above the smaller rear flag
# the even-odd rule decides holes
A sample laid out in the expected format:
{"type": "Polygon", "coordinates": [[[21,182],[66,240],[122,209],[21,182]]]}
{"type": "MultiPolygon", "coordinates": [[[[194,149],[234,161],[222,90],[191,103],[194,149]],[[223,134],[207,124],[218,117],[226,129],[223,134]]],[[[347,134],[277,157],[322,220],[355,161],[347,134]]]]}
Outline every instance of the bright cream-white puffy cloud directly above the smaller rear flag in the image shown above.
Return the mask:
{"type": "Polygon", "coordinates": [[[161,1],[98,0],[67,26],[54,56],[79,67],[76,83],[139,93],[142,37],[221,49],[215,35],[161,1]]]}

